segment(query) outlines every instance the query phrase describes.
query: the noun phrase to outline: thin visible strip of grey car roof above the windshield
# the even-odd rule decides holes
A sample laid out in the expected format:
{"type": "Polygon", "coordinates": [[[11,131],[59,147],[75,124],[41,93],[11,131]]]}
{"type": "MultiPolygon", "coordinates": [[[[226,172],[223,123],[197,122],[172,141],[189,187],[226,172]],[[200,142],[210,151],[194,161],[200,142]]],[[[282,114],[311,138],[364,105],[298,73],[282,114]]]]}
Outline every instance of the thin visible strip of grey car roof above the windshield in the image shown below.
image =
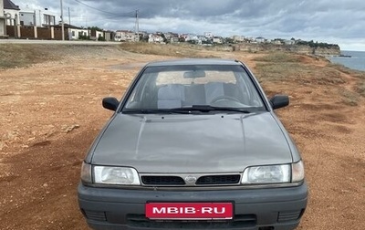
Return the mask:
{"type": "Polygon", "coordinates": [[[242,66],[240,61],[224,58],[183,58],[150,62],[146,67],[185,66],[185,65],[235,65],[242,66]]]}

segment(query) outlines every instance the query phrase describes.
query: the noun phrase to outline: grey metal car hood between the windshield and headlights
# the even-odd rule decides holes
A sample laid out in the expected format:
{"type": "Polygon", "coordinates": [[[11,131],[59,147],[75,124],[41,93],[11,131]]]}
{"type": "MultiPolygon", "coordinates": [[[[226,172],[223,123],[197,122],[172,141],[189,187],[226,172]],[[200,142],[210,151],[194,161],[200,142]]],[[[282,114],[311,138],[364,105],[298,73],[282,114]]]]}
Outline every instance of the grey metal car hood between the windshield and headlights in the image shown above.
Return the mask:
{"type": "Polygon", "coordinates": [[[236,173],[292,162],[286,135],[270,112],[117,114],[97,141],[93,164],[139,173],[236,173]]]}

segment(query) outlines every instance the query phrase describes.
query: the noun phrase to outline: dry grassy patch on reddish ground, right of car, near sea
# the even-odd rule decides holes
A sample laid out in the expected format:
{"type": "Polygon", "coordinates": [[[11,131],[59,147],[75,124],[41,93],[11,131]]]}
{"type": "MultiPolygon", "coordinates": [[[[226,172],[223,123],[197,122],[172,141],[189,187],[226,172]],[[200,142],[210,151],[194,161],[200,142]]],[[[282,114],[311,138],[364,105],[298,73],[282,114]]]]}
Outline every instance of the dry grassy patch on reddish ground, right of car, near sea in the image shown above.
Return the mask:
{"type": "Polygon", "coordinates": [[[351,75],[358,79],[357,84],[354,89],[339,88],[339,95],[342,96],[343,102],[356,106],[360,98],[365,97],[365,72],[333,65],[329,62],[325,66],[308,64],[306,58],[315,61],[318,57],[304,58],[302,55],[276,52],[265,57],[255,58],[256,77],[264,86],[268,82],[295,80],[300,87],[300,84],[340,86],[347,81],[344,75],[351,75]]]}

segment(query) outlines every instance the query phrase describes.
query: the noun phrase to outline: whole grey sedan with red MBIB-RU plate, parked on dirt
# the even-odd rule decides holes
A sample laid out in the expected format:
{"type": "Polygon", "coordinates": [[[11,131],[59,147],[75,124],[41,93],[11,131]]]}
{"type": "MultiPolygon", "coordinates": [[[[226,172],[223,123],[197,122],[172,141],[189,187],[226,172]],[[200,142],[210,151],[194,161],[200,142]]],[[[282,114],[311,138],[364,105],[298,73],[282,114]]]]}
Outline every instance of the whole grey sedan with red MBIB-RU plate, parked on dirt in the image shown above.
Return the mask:
{"type": "Polygon", "coordinates": [[[141,69],[82,164],[78,204],[94,229],[294,229],[308,186],[295,143],[240,61],[141,69]]]}

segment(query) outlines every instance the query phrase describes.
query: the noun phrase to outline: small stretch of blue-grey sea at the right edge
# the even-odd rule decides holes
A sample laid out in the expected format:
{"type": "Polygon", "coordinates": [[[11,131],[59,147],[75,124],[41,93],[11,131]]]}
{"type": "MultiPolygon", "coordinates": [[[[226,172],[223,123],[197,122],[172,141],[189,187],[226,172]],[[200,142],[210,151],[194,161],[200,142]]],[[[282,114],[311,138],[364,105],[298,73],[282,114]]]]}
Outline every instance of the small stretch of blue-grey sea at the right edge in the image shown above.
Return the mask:
{"type": "Polygon", "coordinates": [[[332,63],[341,64],[347,68],[365,71],[365,51],[342,50],[341,56],[328,58],[332,63]]]}

